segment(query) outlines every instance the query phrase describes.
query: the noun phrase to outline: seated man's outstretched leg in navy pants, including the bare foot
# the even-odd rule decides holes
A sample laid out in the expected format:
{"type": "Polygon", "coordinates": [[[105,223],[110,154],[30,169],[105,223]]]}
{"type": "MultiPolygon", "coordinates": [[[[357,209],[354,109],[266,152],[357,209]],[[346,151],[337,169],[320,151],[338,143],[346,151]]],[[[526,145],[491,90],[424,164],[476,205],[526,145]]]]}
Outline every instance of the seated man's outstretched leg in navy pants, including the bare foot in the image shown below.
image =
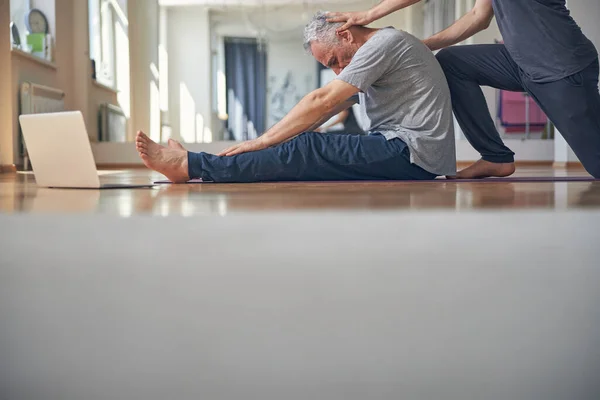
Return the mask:
{"type": "Polygon", "coordinates": [[[174,182],[202,178],[214,182],[433,179],[435,174],[410,162],[400,139],[381,135],[304,133],[268,149],[222,157],[167,147],[138,134],[138,151],[146,166],[174,182]],[[187,157],[187,163],[182,161],[187,157]],[[187,171],[184,171],[187,168],[187,171]]]}

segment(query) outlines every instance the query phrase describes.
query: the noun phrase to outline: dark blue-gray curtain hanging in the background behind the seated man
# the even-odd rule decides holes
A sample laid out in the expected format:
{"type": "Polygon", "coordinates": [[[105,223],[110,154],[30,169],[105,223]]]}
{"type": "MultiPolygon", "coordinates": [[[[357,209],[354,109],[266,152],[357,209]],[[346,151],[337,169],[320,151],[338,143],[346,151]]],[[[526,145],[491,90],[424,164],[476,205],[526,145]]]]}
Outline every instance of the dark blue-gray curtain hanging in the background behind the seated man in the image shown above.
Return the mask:
{"type": "Polygon", "coordinates": [[[231,140],[248,140],[265,131],[267,54],[255,39],[225,39],[227,130],[231,140]]]}

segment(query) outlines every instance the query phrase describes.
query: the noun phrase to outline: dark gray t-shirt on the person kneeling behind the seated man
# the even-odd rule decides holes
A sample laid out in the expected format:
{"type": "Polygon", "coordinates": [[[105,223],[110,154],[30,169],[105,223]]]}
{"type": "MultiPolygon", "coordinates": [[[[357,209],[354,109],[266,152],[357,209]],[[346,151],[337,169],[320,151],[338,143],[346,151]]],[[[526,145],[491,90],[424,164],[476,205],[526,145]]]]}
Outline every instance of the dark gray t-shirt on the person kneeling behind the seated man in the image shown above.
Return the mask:
{"type": "Polygon", "coordinates": [[[506,49],[533,82],[560,80],[598,57],[565,0],[493,0],[493,5],[506,49]]]}

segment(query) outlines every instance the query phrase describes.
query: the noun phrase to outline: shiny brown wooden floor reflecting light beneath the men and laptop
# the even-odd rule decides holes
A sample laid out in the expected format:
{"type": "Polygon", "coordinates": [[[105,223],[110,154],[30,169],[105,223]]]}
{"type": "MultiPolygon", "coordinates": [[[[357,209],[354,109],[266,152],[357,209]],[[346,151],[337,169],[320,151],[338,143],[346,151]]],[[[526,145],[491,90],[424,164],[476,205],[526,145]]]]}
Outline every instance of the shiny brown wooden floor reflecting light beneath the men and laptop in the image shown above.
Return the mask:
{"type": "MultiPolygon", "coordinates": [[[[583,170],[521,168],[517,176],[587,176],[583,170]]],[[[147,183],[147,170],[103,171],[104,183],[147,183]]],[[[600,208],[600,182],[318,182],[165,185],[152,189],[39,188],[31,173],[0,175],[2,213],[227,215],[293,210],[600,208]]]]}

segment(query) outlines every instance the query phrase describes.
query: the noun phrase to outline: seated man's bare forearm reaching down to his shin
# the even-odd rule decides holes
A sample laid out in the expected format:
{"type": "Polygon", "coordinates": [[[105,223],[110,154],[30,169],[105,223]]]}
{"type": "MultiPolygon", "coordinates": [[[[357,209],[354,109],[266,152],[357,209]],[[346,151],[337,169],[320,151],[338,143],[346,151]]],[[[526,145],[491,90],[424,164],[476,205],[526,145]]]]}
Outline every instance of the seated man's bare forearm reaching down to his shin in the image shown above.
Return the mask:
{"type": "Polygon", "coordinates": [[[220,156],[232,156],[248,151],[262,150],[275,146],[320,126],[332,115],[354,104],[349,100],[359,89],[335,79],[326,86],[313,90],[278,123],[273,125],[264,135],[255,140],[232,146],[222,151],[220,156]]]}

